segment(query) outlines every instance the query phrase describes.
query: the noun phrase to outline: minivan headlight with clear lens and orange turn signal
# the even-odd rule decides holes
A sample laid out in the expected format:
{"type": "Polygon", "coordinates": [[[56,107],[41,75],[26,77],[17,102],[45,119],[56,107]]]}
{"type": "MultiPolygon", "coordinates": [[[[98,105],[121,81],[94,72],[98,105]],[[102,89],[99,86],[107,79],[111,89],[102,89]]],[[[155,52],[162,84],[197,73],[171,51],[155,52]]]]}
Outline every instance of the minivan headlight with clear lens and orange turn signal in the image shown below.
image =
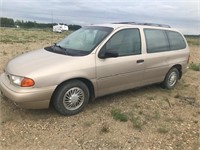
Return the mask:
{"type": "Polygon", "coordinates": [[[13,84],[21,86],[21,87],[30,87],[35,84],[34,80],[30,79],[30,78],[19,77],[19,76],[15,76],[15,75],[9,75],[9,76],[10,76],[10,81],[13,84]]]}

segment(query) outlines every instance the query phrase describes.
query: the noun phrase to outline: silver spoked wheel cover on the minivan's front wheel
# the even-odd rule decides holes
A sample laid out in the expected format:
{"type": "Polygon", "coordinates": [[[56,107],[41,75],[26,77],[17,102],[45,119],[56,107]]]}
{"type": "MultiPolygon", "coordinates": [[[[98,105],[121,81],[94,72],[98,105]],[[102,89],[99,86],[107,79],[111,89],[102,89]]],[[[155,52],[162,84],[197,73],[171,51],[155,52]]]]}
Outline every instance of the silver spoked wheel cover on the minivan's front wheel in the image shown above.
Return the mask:
{"type": "Polygon", "coordinates": [[[63,97],[63,105],[67,110],[76,110],[82,106],[85,99],[83,90],[79,87],[69,89],[63,97]]]}

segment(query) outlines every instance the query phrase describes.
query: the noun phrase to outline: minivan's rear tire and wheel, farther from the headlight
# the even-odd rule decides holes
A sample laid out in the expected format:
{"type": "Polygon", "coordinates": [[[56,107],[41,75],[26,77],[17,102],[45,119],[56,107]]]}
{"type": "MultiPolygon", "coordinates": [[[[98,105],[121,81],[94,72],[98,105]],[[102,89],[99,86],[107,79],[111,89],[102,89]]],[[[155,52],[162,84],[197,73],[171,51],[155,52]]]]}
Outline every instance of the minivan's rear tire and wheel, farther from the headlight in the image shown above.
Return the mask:
{"type": "Polygon", "coordinates": [[[177,68],[171,68],[163,81],[164,88],[173,89],[179,79],[179,75],[180,73],[177,68]]]}

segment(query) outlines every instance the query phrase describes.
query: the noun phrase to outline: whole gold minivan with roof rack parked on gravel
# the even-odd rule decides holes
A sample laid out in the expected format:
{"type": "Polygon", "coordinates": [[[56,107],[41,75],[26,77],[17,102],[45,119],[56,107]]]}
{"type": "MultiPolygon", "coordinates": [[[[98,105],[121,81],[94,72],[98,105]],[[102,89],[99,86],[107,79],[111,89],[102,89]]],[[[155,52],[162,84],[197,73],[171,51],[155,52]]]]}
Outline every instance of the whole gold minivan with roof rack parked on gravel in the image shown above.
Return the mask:
{"type": "Polygon", "coordinates": [[[74,115],[106,94],[153,83],[172,89],[188,60],[184,36],[167,25],[91,25],[9,61],[0,90],[20,107],[48,108],[51,102],[59,113],[74,115]]]}

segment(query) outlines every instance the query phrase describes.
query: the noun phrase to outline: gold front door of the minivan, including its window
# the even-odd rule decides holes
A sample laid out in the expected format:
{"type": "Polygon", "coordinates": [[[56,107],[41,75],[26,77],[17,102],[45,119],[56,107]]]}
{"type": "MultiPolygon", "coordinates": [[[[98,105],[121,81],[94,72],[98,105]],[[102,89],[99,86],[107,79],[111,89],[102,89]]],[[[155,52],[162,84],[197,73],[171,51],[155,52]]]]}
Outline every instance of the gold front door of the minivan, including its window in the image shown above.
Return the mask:
{"type": "Polygon", "coordinates": [[[123,29],[115,33],[100,53],[114,52],[118,57],[96,56],[97,96],[141,85],[144,59],[141,54],[139,29],[123,29]]]}

